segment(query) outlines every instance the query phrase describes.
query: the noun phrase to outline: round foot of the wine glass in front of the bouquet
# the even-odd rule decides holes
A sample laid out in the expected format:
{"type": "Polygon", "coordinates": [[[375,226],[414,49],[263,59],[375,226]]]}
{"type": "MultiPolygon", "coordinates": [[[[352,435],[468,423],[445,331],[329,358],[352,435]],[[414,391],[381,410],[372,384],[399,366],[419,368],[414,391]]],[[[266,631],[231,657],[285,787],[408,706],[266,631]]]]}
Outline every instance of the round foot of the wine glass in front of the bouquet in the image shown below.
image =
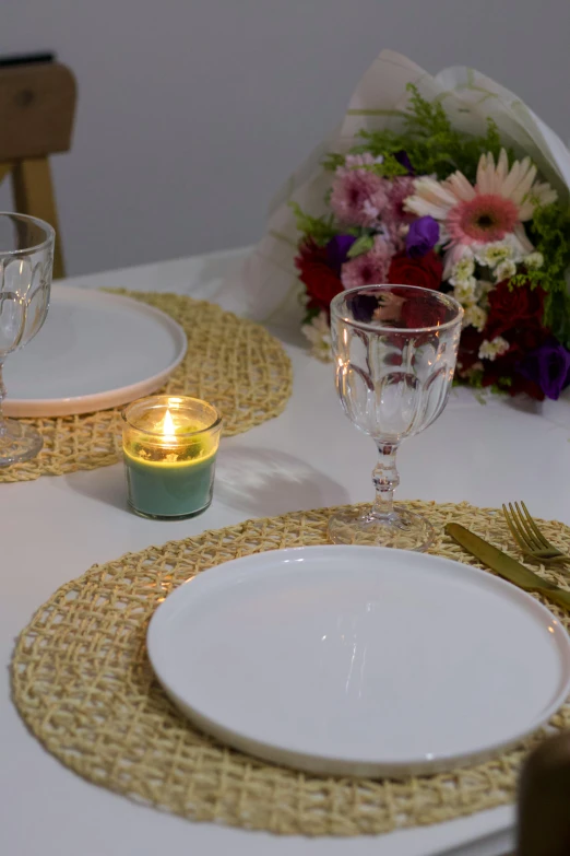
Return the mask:
{"type": "Polygon", "coordinates": [[[372,515],[372,506],[364,512],[344,512],[329,520],[329,537],[335,544],[394,547],[400,550],[427,550],[436,538],[431,524],[405,506],[394,505],[385,517],[372,515]]]}

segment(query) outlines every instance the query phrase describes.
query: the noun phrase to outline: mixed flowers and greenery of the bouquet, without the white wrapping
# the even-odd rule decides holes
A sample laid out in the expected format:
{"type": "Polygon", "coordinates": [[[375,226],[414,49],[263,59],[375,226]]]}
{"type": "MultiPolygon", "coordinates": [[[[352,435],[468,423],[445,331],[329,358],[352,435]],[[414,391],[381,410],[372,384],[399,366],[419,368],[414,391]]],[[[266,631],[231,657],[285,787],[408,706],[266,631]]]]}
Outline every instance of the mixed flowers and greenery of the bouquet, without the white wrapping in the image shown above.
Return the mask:
{"type": "Polygon", "coordinates": [[[329,356],[335,294],[375,283],[450,292],[464,307],[456,379],[558,398],[570,383],[570,212],[526,155],[458,131],[408,84],[401,132],[361,130],[331,153],[329,214],[293,202],[304,331],[329,356]]]}

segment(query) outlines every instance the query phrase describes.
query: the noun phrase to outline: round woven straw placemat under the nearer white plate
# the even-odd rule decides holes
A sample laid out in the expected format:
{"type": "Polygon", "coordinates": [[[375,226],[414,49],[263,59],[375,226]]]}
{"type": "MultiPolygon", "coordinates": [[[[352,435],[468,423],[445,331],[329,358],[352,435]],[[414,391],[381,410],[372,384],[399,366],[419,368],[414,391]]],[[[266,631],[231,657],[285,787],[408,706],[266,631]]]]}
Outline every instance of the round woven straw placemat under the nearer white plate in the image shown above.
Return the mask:
{"type": "MultiPolygon", "coordinates": [[[[512,539],[494,509],[409,503],[439,532],[468,525],[498,547],[512,539]]],[[[321,778],[273,766],[195,730],[153,677],[145,632],[156,606],[189,577],[248,553],[326,541],[332,509],[248,520],[128,553],[62,586],[16,645],[13,696],[45,748],[80,775],[191,820],[282,834],[359,835],[451,820],[513,800],[521,761],[544,735],[476,766],[405,781],[321,778]]],[[[545,524],[570,552],[570,529],[545,524]]],[[[430,551],[476,564],[441,536],[430,551]]],[[[569,588],[556,571],[545,577],[569,588]]],[[[548,605],[570,628],[570,615],[548,605]]],[[[247,690],[246,690],[247,691],[247,690]]],[[[421,716],[421,705],[417,715],[421,716]]],[[[551,720],[570,727],[570,704],[551,720]]]]}

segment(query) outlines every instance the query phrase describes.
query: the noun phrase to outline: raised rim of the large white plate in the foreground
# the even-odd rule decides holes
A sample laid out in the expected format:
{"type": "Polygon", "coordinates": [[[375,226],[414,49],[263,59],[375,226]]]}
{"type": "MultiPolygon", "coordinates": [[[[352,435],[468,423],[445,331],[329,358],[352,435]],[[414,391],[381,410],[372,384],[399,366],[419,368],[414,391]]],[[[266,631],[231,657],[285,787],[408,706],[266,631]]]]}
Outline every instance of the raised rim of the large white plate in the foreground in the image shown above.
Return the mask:
{"type": "MultiPolygon", "coordinates": [[[[159,625],[159,621],[163,618],[168,617],[168,611],[171,611],[176,608],[177,601],[181,598],[188,597],[186,593],[192,590],[191,588],[188,589],[188,586],[193,584],[195,587],[200,579],[207,578],[206,575],[215,574],[217,576],[223,573],[228,573],[228,567],[247,564],[252,560],[256,564],[261,564],[266,553],[275,554],[277,558],[283,556],[284,554],[298,554],[299,552],[339,552],[344,550],[358,550],[368,552],[373,551],[379,555],[379,558],[393,554],[394,552],[394,550],[391,548],[360,544],[310,544],[277,550],[265,550],[259,553],[250,553],[245,556],[238,556],[226,562],[222,562],[217,565],[213,565],[210,568],[205,568],[204,571],[200,572],[198,576],[187,579],[180,586],[175,588],[174,591],[171,591],[163,600],[163,602],[158,605],[151,617],[146,631],[146,649],[151,666],[156,676],[156,679],[169,699],[201,730],[221,740],[222,742],[238,749],[239,751],[246,752],[247,754],[256,755],[265,761],[269,761],[270,763],[283,764],[285,766],[302,770],[316,775],[356,775],[372,778],[380,776],[391,776],[395,778],[402,778],[409,775],[429,775],[474,763],[480,763],[489,758],[495,757],[499,752],[508,751],[510,748],[513,748],[520,743],[521,740],[524,740],[526,737],[534,734],[538,728],[544,726],[568,700],[570,694],[570,634],[568,633],[565,625],[556,618],[556,615],[553,614],[553,612],[550,612],[547,607],[541,603],[541,601],[536,598],[532,597],[529,593],[488,571],[471,564],[455,561],[453,559],[448,559],[447,556],[418,553],[408,550],[397,550],[396,552],[406,553],[406,556],[408,556],[412,562],[421,562],[423,560],[427,560],[428,562],[435,561],[437,564],[443,563],[448,567],[454,567],[455,570],[456,566],[460,568],[465,568],[467,574],[473,575],[474,578],[478,578],[480,581],[485,579],[487,587],[495,587],[499,593],[502,593],[510,600],[514,600],[515,602],[520,603],[521,607],[526,605],[527,608],[532,608],[536,615],[543,615],[545,624],[547,622],[550,624],[554,622],[556,624],[555,638],[557,642],[557,648],[562,658],[560,687],[550,704],[543,710],[543,714],[533,720],[532,724],[525,727],[524,730],[513,735],[507,740],[494,742],[492,744],[484,747],[480,750],[452,754],[439,754],[430,760],[426,760],[425,758],[420,758],[414,761],[394,761],[393,759],[346,760],[345,758],[341,757],[312,755],[309,752],[295,750],[293,748],[287,748],[286,746],[277,747],[273,743],[257,740],[256,738],[251,738],[240,731],[236,731],[231,728],[221,725],[214,719],[210,719],[206,714],[197,707],[192,707],[192,705],[186,699],[181,697],[177,690],[169,684],[169,681],[165,679],[163,675],[161,675],[159,665],[157,667],[158,657],[156,656],[156,636],[158,632],[157,628],[159,625]]],[[[210,576],[210,579],[211,578],[212,576],[210,576]]]]}

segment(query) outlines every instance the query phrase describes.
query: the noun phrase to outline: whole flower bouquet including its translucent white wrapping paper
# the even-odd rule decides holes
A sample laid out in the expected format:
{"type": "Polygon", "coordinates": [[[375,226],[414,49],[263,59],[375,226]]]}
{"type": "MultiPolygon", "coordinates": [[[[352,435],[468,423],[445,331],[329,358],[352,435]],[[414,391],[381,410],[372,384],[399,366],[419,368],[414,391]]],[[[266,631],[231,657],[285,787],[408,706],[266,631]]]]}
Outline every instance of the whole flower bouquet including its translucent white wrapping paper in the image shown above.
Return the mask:
{"type": "Polygon", "coordinates": [[[302,330],[326,360],[340,291],[449,292],[465,310],[456,382],[556,399],[570,384],[569,184],[568,150],[512,93],[383,51],[274,207],[248,296],[275,318],[296,274],[302,330]]]}

